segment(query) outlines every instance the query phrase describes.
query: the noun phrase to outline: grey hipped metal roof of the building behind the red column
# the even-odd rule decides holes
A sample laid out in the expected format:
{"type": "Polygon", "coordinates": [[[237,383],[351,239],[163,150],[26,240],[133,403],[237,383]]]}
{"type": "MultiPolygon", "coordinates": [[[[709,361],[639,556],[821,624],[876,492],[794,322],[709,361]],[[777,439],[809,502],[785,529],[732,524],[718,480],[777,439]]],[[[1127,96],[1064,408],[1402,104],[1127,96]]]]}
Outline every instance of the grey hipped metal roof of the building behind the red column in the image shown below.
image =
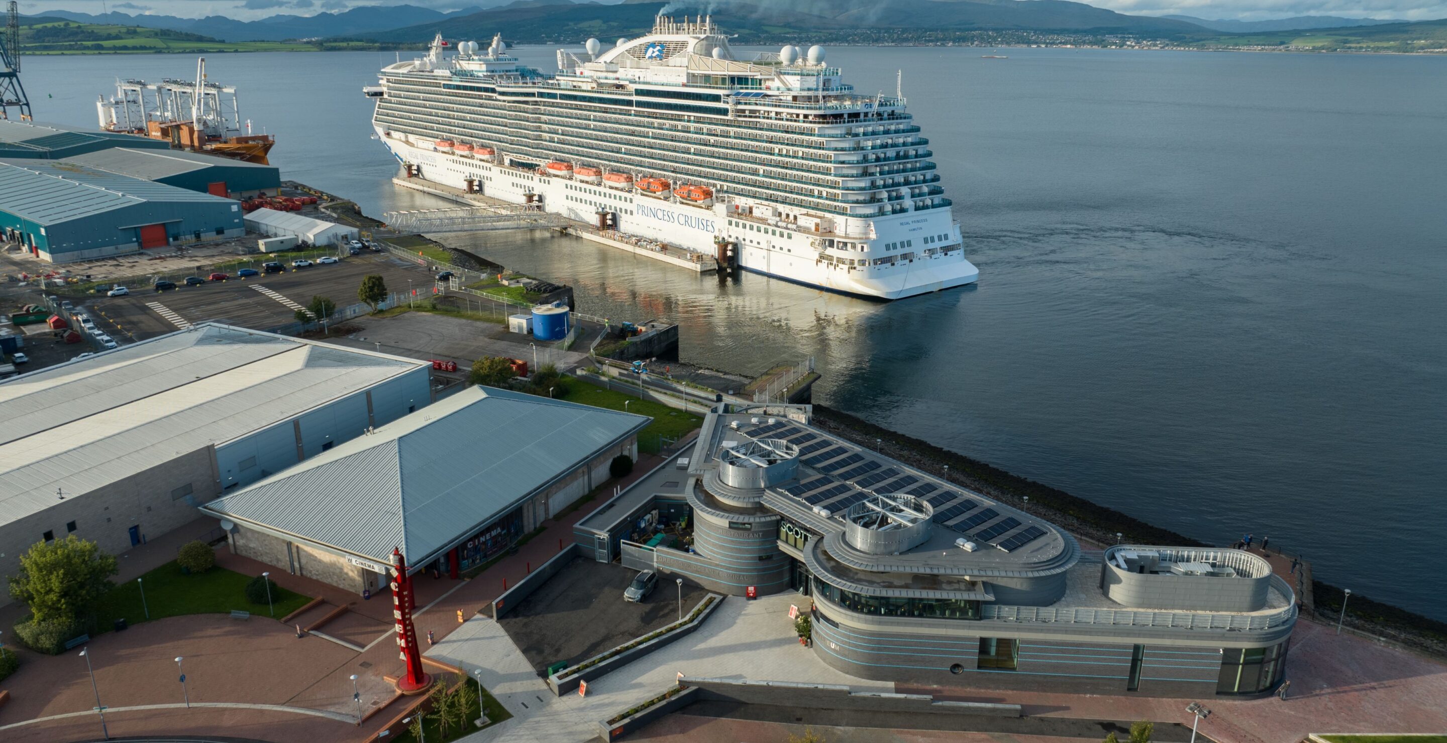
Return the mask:
{"type": "Polygon", "coordinates": [[[424,565],[648,422],[470,387],[201,510],[381,564],[401,548],[424,565]]]}

